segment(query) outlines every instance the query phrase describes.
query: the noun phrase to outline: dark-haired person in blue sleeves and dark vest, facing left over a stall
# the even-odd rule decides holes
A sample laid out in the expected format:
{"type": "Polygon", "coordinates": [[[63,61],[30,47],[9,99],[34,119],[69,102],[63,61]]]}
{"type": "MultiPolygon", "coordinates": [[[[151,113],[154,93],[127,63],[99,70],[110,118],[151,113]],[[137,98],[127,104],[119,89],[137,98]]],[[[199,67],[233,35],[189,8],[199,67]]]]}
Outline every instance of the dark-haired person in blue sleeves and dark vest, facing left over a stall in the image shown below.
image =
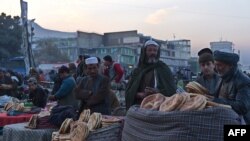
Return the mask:
{"type": "Polygon", "coordinates": [[[69,71],[69,68],[66,66],[59,68],[58,74],[62,79],[62,84],[54,95],[49,96],[49,100],[57,101],[58,105],[72,105],[75,109],[78,109],[78,101],[73,94],[76,82],[69,71]]]}

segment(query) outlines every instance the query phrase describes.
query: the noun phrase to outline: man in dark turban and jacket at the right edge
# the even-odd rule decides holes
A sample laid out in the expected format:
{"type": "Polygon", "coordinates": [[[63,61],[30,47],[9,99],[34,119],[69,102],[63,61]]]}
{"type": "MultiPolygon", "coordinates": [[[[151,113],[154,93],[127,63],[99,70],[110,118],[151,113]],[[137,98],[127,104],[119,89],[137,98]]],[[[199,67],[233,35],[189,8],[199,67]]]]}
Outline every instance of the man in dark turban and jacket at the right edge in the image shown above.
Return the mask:
{"type": "Polygon", "coordinates": [[[237,67],[235,53],[214,52],[215,68],[222,78],[217,85],[214,102],[231,105],[250,124],[250,79],[237,67]]]}

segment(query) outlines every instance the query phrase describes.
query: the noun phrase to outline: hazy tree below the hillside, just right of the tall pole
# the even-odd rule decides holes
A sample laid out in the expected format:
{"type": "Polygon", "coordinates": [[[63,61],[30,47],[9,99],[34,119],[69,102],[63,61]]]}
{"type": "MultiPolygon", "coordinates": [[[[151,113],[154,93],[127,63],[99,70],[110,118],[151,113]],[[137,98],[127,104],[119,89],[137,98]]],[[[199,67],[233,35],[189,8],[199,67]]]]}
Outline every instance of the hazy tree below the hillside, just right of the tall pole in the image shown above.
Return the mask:
{"type": "Polygon", "coordinates": [[[57,45],[53,42],[53,39],[46,39],[37,43],[37,49],[39,51],[34,52],[35,62],[41,64],[46,63],[58,63],[69,62],[69,58],[66,54],[62,53],[57,45]]]}

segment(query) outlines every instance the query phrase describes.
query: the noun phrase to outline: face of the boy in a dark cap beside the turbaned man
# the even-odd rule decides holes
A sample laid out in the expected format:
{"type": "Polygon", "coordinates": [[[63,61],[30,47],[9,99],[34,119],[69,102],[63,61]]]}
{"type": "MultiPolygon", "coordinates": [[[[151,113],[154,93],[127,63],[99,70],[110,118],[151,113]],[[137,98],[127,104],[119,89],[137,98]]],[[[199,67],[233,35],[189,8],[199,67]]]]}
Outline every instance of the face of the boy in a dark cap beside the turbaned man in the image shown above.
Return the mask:
{"type": "Polygon", "coordinates": [[[201,72],[204,76],[212,76],[214,74],[214,63],[212,61],[200,63],[201,72]]]}

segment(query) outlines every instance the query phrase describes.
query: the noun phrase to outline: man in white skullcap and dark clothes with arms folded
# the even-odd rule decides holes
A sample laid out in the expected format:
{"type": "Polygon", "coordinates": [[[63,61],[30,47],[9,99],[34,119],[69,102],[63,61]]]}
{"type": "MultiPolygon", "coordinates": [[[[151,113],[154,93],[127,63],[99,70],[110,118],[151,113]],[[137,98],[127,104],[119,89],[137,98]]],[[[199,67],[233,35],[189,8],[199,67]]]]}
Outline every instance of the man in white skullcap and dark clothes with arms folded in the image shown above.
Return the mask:
{"type": "Polygon", "coordinates": [[[79,112],[90,109],[91,112],[110,115],[109,78],[99,74],[99,63],[96,57],[85,60],[87,76],[83,77],[75,89],[75,97],[81,100],[79,112]]]}

